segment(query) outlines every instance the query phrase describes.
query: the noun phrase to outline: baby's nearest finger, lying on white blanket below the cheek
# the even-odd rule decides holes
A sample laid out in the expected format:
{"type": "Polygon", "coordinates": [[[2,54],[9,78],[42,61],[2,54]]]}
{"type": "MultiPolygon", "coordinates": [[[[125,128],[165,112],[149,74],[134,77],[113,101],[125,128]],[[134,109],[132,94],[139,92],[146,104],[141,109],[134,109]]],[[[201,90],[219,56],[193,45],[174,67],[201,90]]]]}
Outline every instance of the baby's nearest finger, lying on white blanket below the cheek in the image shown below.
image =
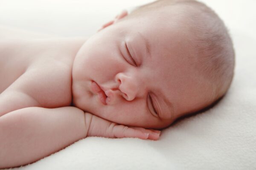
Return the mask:
{"type": "Polygon", "coordinates": [[[140,138],[148,139],[149,133],[144,133],[141,130],[137,130],[124,125],[115,125],[113,127],[113,137],[116,138],[140,138]]]}

